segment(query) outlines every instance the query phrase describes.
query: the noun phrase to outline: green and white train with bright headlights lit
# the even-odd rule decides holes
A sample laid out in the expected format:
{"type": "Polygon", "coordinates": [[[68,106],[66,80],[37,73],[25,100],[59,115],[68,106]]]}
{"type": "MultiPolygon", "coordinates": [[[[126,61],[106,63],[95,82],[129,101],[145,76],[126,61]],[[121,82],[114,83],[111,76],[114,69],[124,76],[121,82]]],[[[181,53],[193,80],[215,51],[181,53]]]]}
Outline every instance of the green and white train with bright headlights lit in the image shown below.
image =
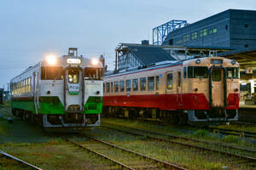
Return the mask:
{"type": "Polygon", "coordinates": [[[77,48],[46,58],[11,80],[13,115],[46,128],[99,126],[102,76],[101,59],[78,56],[77,48]]]}

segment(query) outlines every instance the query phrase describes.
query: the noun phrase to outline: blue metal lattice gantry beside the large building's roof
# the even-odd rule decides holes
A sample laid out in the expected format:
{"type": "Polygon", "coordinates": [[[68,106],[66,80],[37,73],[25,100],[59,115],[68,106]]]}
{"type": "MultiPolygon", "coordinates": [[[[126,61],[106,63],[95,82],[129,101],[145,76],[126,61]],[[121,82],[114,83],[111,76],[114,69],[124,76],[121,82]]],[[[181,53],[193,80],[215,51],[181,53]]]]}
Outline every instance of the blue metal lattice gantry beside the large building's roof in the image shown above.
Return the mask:
{"type": "Polygon", "coordinates": [[[171,20],[165,24],[153,28],[153,44],[161,45],[169,32],[187,25],[187,20],[171,20]]]}

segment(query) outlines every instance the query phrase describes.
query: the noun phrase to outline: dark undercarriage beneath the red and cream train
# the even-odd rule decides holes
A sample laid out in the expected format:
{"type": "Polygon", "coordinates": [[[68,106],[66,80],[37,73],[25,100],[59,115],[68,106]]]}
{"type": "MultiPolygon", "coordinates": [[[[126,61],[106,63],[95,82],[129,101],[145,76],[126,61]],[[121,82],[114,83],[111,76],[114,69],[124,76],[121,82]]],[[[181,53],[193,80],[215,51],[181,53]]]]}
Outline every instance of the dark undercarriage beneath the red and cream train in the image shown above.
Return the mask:
{"type": "Polygon", "coordinates": [[[212,125],[224,124],[226,122],[236,122],[238,120],[237,110],[212,109],[206,111],[161,111],[152,108],[136,107],[113,107],[103,108],[105,116],[121,116],[131,119],[149,119],[155,121],[172,122],[173,124],[191,124],[191,125],[212,125]]]}

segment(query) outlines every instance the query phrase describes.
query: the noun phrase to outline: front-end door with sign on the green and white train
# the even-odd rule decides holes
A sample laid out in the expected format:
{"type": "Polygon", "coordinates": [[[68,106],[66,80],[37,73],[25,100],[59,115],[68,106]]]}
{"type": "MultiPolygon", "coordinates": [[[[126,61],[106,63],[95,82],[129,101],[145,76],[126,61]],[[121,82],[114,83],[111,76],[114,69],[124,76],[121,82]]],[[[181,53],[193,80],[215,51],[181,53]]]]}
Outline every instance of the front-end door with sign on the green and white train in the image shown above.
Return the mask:
{"type": "Polygon", "coordinates": [[[83,70],[66,69],[65,71],[65,110],[68,112],[83,111],[83,70]]]}

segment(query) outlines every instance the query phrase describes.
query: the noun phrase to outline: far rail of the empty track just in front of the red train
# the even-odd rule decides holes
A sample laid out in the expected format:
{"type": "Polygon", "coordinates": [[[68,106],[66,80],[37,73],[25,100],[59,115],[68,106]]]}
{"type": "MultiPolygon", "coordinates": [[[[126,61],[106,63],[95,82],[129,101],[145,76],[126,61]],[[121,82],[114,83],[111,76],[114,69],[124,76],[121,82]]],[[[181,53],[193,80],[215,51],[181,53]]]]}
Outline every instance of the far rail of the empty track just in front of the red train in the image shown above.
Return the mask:
{"type": "MultiPolygon", "coordinates": [[[[115,125],[115,124],[108,123],[108,122],[102,122],[102,124],[115,125]]],[[[125,127],[125,126],[121,126],[121,125],[118,125],[118,126],[119,127],[125,127]]],[[[157,134],[157,135],[161,135],[161,136],[166,136],[166,137],[170,137],[172,139],[184,139],[184,140],[193,141],[193,142],[200,142],[201,144],[213,144],[213,145],[218,145],[218,146],[225,147],[227,149],[242,150],[242,151],[248,151],[248,152],[256,153],[256,150],[250,150],[250,149],[246,149],[246,148],[236,147],[236,146],[232,146],[232,145],[229,145],[229,144],[220,144],[220,143],[215,143],[215,142],[202,141],[202,140],[198,140],[198,139],[189,139],[189,138],[186,138],[186,137],[181,137],[181,136],[177,136],[177,135],[173,135],[173,134],[157,133],[157,132],[138,129],[138,128],[134,128],[134,127],[128,127],[128,128],[131,128],[131,129],[136,130],[136,131],[141,131],[143,133],[153,133],[153,134],[157,134]]]]}

